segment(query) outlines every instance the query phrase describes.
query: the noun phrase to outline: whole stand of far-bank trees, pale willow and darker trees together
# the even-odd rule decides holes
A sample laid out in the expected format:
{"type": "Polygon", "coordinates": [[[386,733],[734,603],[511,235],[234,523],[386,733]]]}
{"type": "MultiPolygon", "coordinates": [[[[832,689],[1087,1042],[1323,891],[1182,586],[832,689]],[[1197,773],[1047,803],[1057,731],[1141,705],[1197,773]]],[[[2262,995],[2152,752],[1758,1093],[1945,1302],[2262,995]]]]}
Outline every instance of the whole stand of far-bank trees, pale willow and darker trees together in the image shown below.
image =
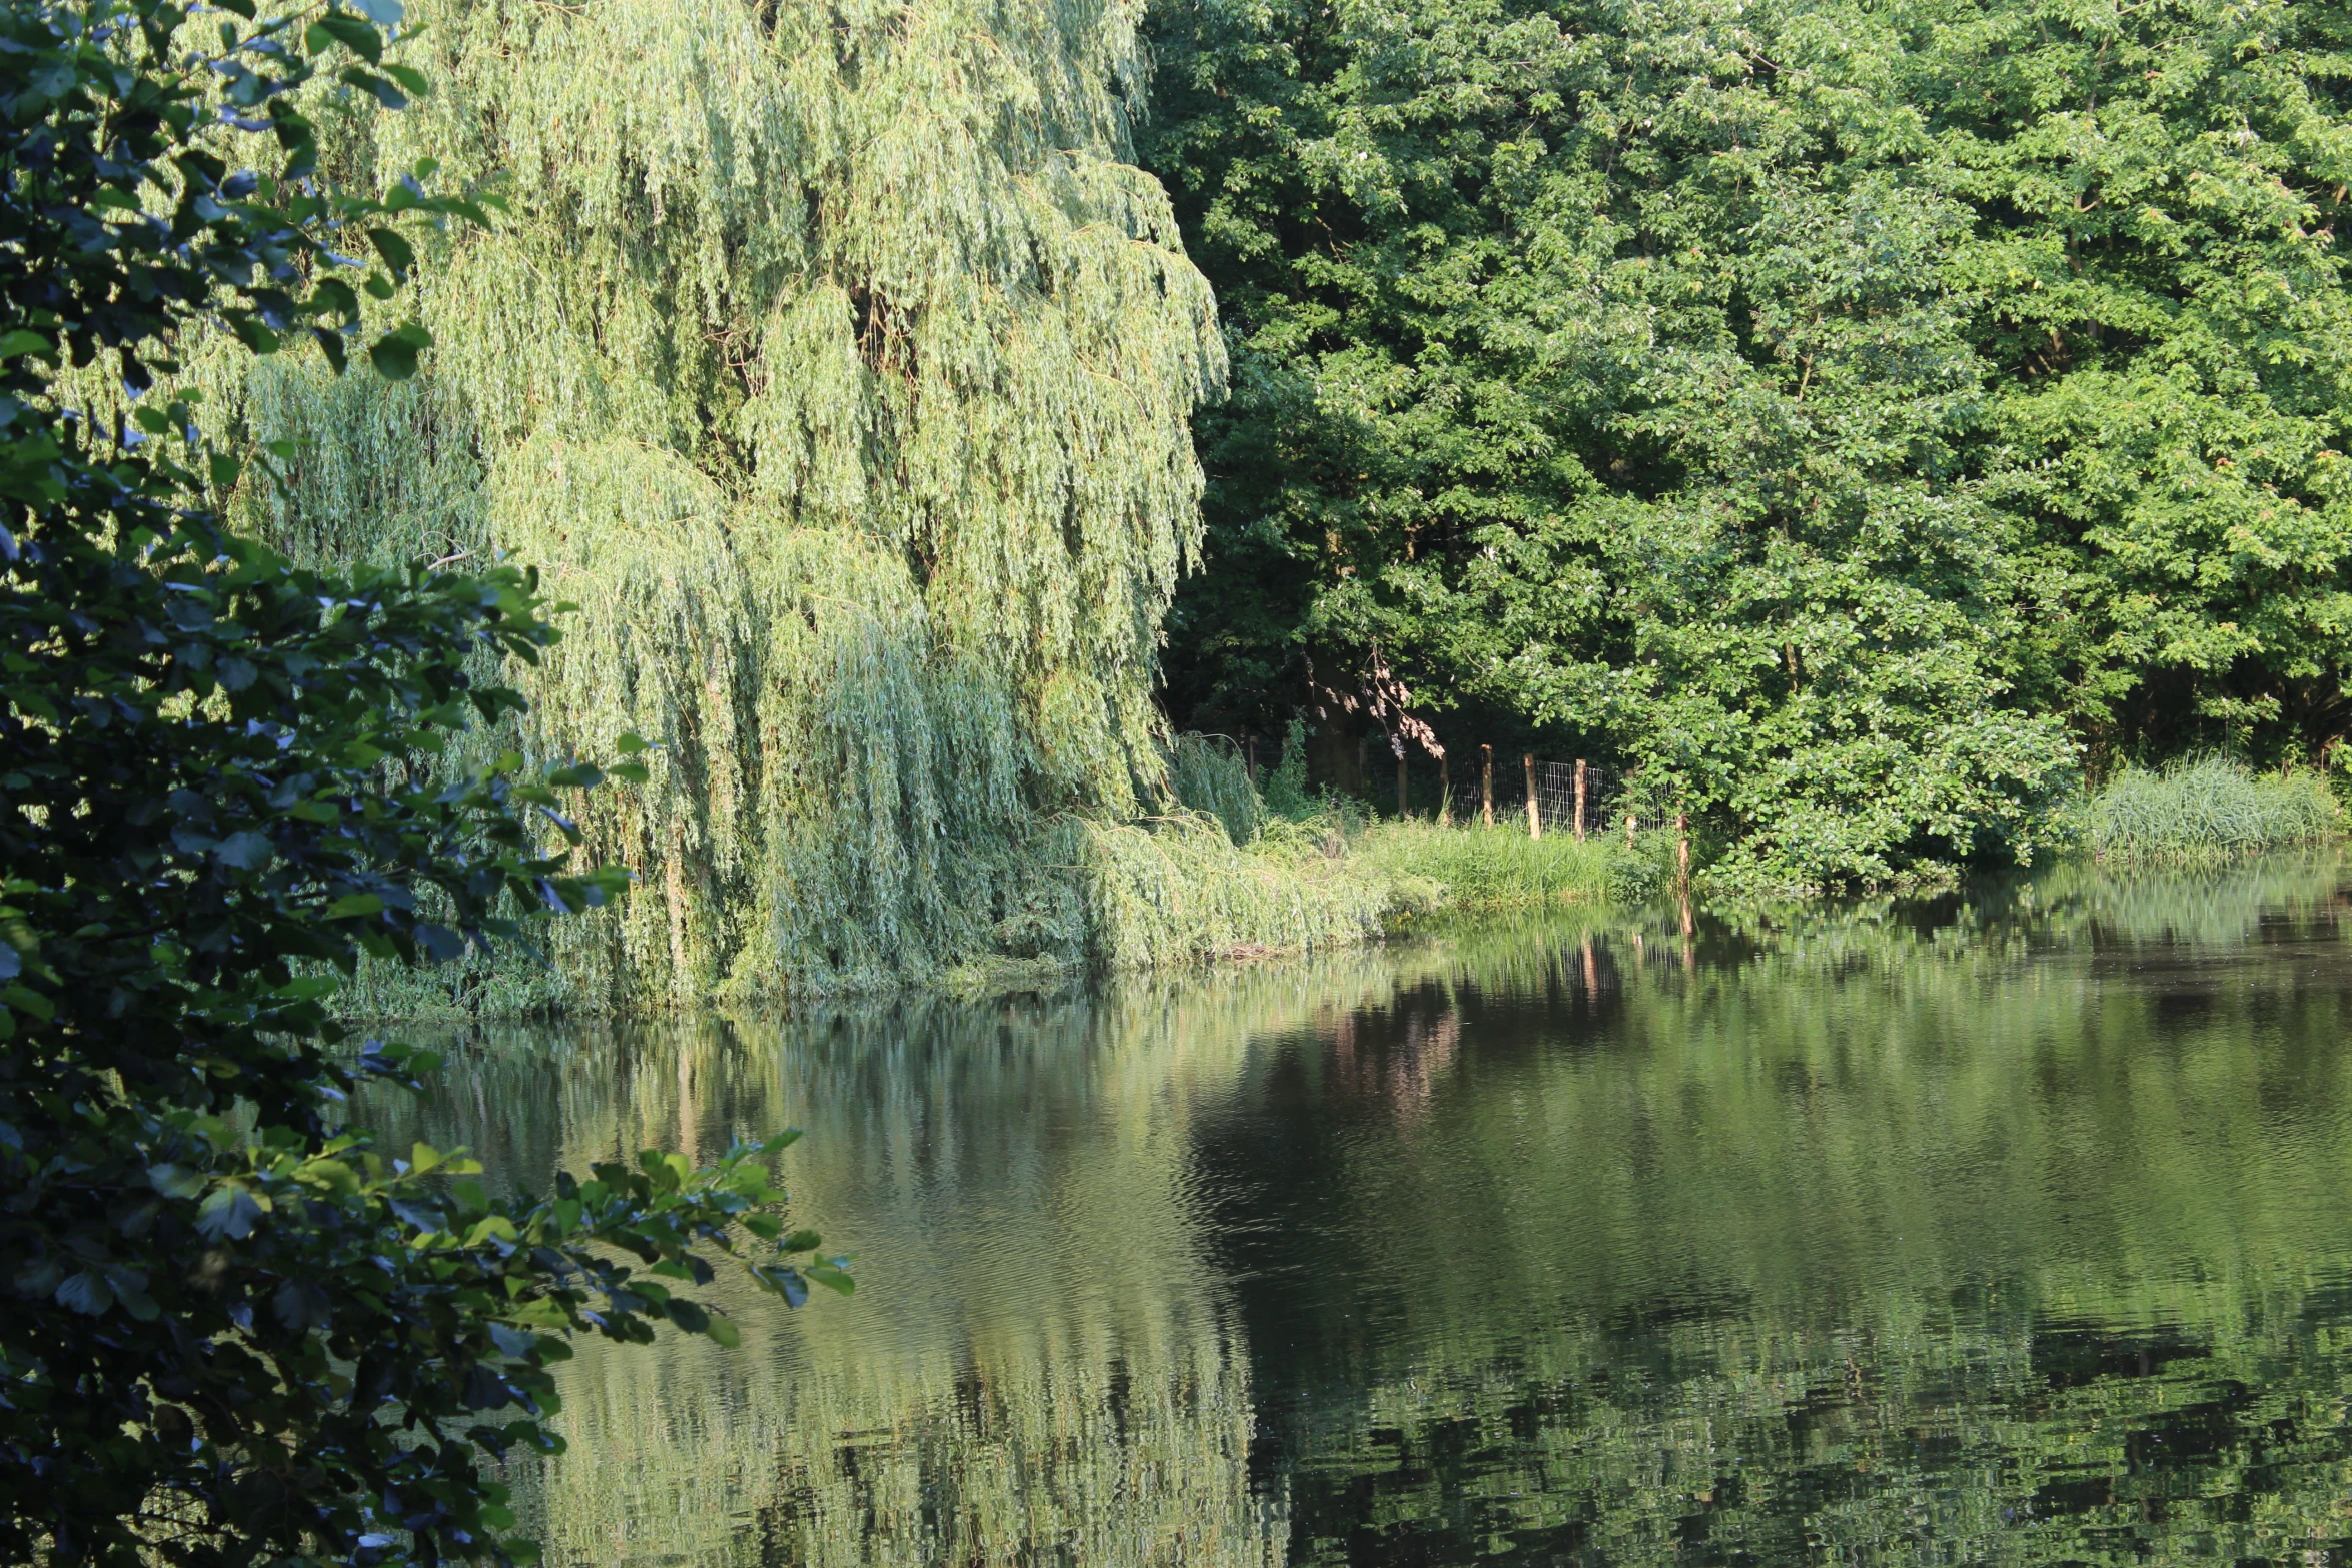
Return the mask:
{"type": "Polygon", "coordinates": [[[1291,722],[1463,802],[1479,743],[1592,757],[1750,889],[2030,860],[2133,766],[2340,762],[2336,7],[416,24],[433,96],[329,158],[503,202],[419,263],[423,371],[198,374],[301,454],[223,496],[247,527],[541,567],[579,611],[529,750],[659,743],[586,820],[640,898],[463,985],[835,990],[1411,903],[1176,820],[1192,731],[1261,792],[1291,722]]]}

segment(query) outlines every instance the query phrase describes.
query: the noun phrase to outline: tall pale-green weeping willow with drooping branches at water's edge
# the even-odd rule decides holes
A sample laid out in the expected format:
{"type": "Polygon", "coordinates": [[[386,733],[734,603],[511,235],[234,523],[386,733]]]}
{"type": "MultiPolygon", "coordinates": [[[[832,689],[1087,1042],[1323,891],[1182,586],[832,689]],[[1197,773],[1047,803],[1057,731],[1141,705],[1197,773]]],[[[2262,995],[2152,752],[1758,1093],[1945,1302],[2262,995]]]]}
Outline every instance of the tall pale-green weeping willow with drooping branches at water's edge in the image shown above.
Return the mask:
{"type": "Polygon", "coordinates": [[[242,435],[294,442],[256,527],[539,564],[579,611],[524,679],[524,750],[659,743],[581,823],[640,896],[510,999],[1376,922],[1357,884],[1261,889],[1237,846],[1136,825],[1174,809],[1160,625],[1200,527],[1190,411],[1225,374],[1129,165],[1136,14],[421,0],[433,96],[346,110],[353,172],[430,158],[506,219],[426,259],[416,383],[216,378],[242,435]],[[1152,919],[1138,858],[1225,924],[1120,933],[1152,919]]]}

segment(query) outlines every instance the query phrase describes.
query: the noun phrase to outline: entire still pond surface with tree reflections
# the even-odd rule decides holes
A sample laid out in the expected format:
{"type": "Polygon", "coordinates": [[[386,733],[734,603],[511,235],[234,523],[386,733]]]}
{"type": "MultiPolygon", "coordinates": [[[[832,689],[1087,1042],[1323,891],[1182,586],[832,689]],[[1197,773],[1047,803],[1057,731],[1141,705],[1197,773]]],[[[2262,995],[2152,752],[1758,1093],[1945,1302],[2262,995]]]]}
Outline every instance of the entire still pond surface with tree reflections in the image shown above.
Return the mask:
{"type": "MultiPolygon", "coordinates": [[[[802,1126],[858,1293],[583,1347],[553,1563],[2338,1563],[2352,872],[515,1032],[539,1185],[802,1126]]],[[[393,1119],[393,1112],[379,1121],[393,1119]]]]}

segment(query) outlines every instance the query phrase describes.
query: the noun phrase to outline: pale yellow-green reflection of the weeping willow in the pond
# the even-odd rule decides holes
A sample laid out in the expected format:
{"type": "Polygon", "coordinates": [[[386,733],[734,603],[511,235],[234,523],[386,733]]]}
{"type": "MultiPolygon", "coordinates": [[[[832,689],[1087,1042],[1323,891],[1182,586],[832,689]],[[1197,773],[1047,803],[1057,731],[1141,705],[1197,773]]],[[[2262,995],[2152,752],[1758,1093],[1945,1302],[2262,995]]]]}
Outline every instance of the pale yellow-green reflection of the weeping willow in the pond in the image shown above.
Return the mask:
{"type": "Polygon", "coordinates": [[[562,1385],[572,1455],[527,1488],[553,1559],[1279,1552],[1249,1490],[1249,1371],[1204,1262],[1192,1114],[1270,1018],[1345,1016],[1385,978],[1352,954],[1070,1004],[466,1051],[397,1135],[527,1178],[802,1124],[795,1204],[861,1251],[851,1302],[783,1316],[722,1295],[743,1352],[666,1342],[647,1375],[588,1347],[562,1385]]]}

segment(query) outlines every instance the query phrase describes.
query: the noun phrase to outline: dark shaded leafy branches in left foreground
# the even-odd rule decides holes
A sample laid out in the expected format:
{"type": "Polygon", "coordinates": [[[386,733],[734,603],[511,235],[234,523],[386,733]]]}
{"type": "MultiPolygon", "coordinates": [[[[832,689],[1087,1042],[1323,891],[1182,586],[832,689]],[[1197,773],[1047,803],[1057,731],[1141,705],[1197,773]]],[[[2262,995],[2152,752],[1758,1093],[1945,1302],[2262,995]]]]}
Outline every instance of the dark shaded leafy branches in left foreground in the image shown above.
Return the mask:
{"type": "MultiPolygon", "coordinates": [[[[235,463],[191,402],[103,428],[59,400],[68,362],[136,397],[202,320],[341,364],[416,219],[482,216],[318,174],[329,73],[419,89],[381,61],[397,5],[252,9],[0,12],[0,1559],[503,1563],[480,1462],[560,1446],[560,1335],[731,1340],[699,1248],[750,1241],[788,1298],[847,1276],[783,1255],[816,1237],[762,1211],[781,1138],[536,1204],[339,1126],[358,1077],[430,1058],[353,1060],[334,971],[517,940],[626,877],[567,867],[597,769],[442,766],[522,703],[475,670],[557,644],[534,576],[299,569],[205,510],[235,463]]],[[[416,327],[369,336],[414,371],[416,327]]]]}

